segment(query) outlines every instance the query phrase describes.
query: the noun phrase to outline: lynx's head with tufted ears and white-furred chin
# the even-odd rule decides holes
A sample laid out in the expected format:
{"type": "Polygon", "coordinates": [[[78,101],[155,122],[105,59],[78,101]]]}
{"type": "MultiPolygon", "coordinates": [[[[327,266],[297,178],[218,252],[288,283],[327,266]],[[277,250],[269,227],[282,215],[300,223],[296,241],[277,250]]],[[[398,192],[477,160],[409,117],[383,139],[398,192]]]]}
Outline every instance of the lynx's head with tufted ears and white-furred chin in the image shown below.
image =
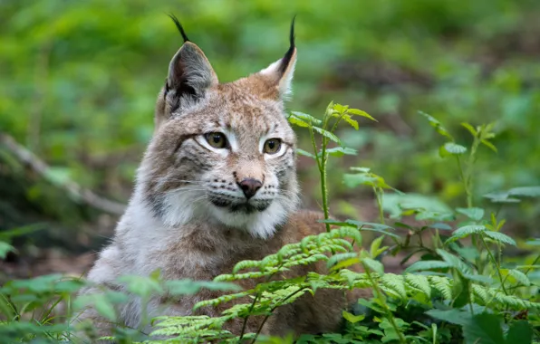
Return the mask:
{"type": "Polygon", "coordinates": [[[233,82],[219,83],[188,40],[169,64],[139,189],[165,225],[206,221],[217,228],[274,234],[298,203],[295,136],[284,115],[296,48],[294,20],[284,57],[233,82]]]}

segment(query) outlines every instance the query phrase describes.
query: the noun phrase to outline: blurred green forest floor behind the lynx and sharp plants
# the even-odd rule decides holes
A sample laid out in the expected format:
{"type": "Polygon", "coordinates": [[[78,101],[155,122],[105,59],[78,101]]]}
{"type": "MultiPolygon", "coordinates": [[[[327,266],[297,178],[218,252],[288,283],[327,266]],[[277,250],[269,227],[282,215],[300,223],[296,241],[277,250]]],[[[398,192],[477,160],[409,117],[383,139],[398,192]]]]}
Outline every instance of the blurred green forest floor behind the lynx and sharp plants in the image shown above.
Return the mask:
{"type": "MultiPolygon", "coordinates": [[[[481,149],[477,161],[478,202],[487,192],[540,181],[540,1],[5,0],[0,132],[52,167],[43,178],[0,146],[0,230],[43,224],[19,239],[32,248],[27,256],[51,246],[82,252],[111,235],[116,215],[73,201],[55,183],[71,179],[127,202],[157,92],[181,44],[168,13],[220,81],[280,58],[297,14],[288,108],[319,116],[334,100],[379,119],[339,132],[360,154],[331,161],[335,213],[371,216],[371,196],[342,185],[351,166],[371,167],[402,191],[464,204],[455,164],[438,156],[444,141],[418,110],[466,146],[471,138],[460,122],[497,121],[498,154],[481,149]]],[[[305,203],[316,207],[313,163],[300,158],[299,165],[305,203]]],[[[516,206],[519,216],[506,210],[515,228],[534,233],[539,205],[516,206]]]]}

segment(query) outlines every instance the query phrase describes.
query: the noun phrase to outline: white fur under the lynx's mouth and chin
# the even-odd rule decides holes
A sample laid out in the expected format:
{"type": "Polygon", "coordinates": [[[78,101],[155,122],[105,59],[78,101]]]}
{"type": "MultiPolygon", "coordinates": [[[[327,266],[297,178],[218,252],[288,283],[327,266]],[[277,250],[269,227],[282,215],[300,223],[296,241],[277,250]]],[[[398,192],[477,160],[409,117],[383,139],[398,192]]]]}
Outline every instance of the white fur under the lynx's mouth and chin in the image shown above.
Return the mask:
{"type": "Polygon", "coordinates": [[[263,239],[274,235],[275,226],[283,225],[288,214],[284,205],[276,201],[264,211],[251,214],[231,213],[227,208],[219,208],[215,205],[210,205],[210,209],[212,215],[220,223],[246,230],[249,234],[263,239]]]}

